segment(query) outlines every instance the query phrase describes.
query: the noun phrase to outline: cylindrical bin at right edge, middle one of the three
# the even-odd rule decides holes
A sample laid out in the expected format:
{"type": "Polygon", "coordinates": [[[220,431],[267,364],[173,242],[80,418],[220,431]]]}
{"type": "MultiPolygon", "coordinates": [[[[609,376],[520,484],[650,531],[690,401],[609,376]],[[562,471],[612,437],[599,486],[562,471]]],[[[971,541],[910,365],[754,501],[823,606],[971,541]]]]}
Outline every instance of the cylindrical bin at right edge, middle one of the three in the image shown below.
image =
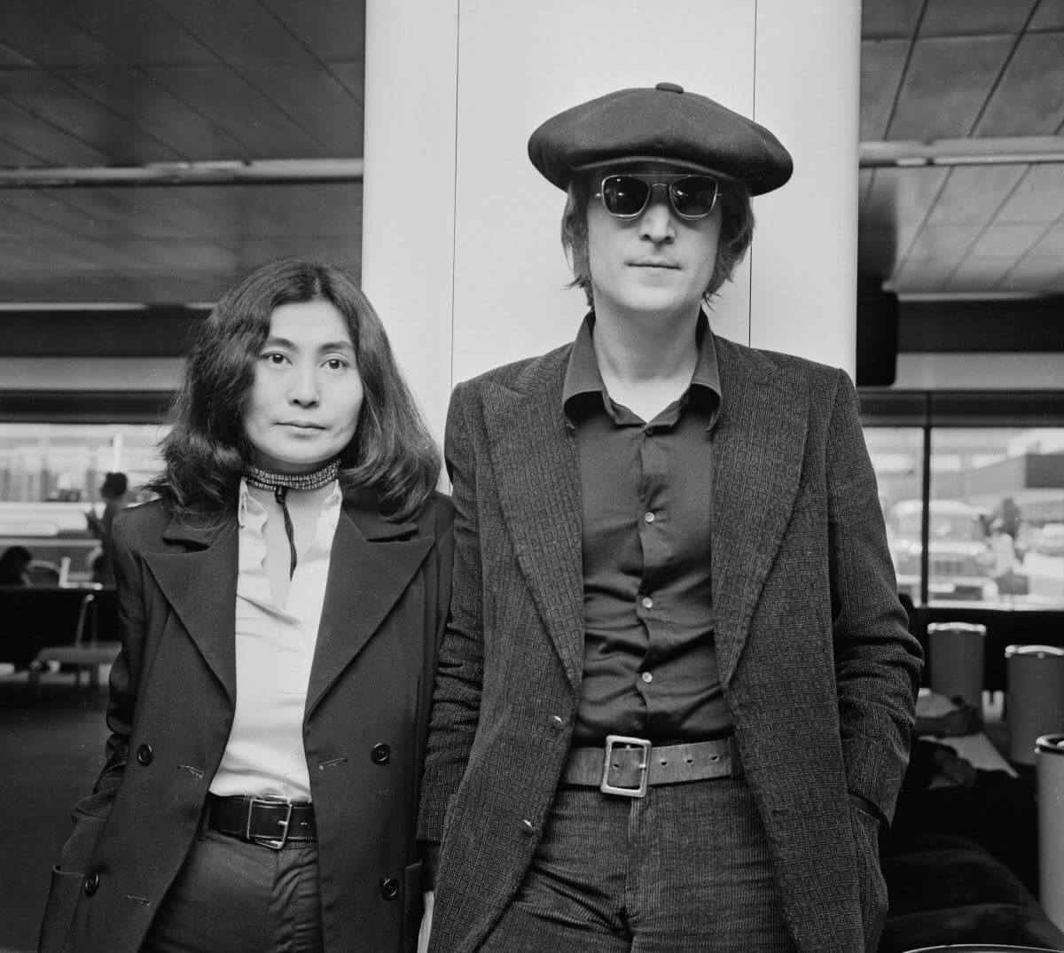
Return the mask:
{"type": "Polygon", "coordinates": [[[1017,765],[1033,765],[1038,737],[1064,733],[1064,649],[1009,646],[1004,657],[1009,759],[1017,765]]]}

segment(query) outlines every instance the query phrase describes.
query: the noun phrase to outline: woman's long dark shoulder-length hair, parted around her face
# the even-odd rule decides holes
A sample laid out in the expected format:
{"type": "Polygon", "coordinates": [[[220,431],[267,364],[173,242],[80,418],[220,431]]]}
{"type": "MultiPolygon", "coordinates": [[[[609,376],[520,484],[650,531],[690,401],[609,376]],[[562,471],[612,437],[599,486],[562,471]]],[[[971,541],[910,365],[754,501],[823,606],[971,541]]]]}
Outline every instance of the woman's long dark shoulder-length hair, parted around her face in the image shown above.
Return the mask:
{"type": "Polygon", "coordinates": [[[148,484],[177,518],[211,521],[235,507],[240,476],[253,463],[242,413],[270,317],[282,304],[317,300],[344,317],[362,378],[359,425],[339,456],[345,494],[371,487],[381,514],[401,521],[435,487],[439,450],[354,278],[334,265],[279,258],[226,291],[193,344],[161,442],[164,470],[148,484]]]}

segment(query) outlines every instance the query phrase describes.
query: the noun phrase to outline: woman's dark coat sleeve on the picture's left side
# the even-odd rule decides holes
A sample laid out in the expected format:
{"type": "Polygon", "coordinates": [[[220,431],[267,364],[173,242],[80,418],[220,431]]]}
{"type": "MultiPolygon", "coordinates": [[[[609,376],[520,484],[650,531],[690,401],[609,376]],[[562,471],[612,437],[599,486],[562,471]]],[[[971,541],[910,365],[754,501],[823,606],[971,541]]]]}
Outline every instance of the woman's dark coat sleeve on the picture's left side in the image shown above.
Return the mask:
{"type": "Polygon", "coordinates": [[[38,950],[62,947],[81,895],[81,879],[88,868],[111,805],[122,780],[129,749],[136,676],[145,640],[144,587],[139,558],[126,540],[124,518],[115,523],[115,570],[118,587],[118,631],[121,651],[111,668],[111,700],[103,770],[93,792],[73,806],[73,832],[52,870],[52,883],[40,925],[38,950]]]}

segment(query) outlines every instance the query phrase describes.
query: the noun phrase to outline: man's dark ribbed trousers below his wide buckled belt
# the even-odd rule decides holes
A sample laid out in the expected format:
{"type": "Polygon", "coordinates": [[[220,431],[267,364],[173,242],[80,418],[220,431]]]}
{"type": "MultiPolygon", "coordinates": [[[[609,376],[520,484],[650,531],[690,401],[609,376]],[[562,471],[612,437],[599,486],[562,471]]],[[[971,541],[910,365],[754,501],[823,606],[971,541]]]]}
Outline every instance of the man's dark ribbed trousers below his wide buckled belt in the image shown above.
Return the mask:
{"type": "Polygon", "coordinates": [[[742,779],[644,799],[562,786],[532,866],[481,948],[506,953],[792,953],[742,779]]]}

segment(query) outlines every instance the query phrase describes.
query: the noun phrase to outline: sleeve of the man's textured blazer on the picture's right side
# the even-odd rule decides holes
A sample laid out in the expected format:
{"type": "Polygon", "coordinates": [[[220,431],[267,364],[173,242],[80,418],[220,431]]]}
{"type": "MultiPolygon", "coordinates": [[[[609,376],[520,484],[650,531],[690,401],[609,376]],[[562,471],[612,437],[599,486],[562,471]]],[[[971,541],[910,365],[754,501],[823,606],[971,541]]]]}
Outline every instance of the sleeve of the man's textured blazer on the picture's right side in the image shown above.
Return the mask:
{"type": "Polygon", "coordinates": [[[827,434],[832,635],[846,782],[890,821],[909,759],[922,654],[898,601],[857,391],[838,371],[827,434]]]}

